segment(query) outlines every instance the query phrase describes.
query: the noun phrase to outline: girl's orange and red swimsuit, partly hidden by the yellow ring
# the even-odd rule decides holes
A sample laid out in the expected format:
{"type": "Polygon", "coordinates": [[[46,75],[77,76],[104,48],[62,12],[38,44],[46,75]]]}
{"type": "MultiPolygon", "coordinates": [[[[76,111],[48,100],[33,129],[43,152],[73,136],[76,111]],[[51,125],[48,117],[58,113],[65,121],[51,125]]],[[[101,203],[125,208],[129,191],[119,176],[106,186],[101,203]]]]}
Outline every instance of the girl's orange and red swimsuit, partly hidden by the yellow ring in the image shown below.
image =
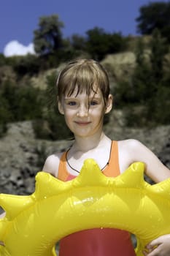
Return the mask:
{"type": "MultiPolygon", "coordinates": [[[[102,170],[105,176],[120,175],[117,141],[112,141],[109,162],[102,170]]],[[[75,176],[66,170],[66,152],[61,156],[58,178],[69,181],[75,176]]],[[[73,233],[60,241],[60,256],[135,256],[131,236],[125,230],[93,228],[73,233]]]]}

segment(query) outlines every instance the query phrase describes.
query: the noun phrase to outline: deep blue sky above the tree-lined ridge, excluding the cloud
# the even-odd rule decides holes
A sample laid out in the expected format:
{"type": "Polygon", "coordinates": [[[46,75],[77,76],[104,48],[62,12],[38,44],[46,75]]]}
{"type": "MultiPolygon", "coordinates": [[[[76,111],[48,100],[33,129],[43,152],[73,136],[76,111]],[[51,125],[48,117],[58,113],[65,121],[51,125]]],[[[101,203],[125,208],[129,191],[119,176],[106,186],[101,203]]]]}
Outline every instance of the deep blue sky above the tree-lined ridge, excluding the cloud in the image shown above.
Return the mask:
{"type": "Polygon", "coordinates": [[[139,7],[148,0],[1,0],[0,53],[9,42],[17,41],[28,47],[33,42],[33,31],[39,17],[58,14],[65,28],[63,37],[85,35],[98,26],[107,32],[120,31],[123,35],[136,34],[135,18],[139,7]]]}

